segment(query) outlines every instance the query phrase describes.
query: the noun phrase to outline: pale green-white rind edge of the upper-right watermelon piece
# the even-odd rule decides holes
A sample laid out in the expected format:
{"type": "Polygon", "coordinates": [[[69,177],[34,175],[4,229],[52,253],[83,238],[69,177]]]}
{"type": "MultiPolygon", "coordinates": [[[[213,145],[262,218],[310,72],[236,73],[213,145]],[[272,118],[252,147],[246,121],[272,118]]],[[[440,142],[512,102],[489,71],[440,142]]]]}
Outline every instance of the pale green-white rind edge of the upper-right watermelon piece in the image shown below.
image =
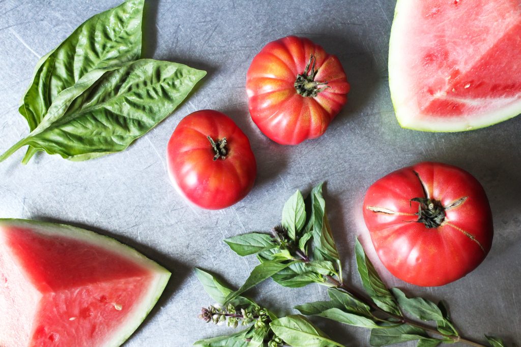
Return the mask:
{"type": "MultiPolygon", "coordinates": [[[[498,108],[494,112],[479,115],[479,117],[470,120],[462,120],[461,118],[458,118],[457,121],[449,121],[446,118],[436,116],[428,117],[425,119],[417,119],[414,117],[414,115],[413,117],[411,117],[411,115],[406,116],[405,114],[408,113],[407,110],[402,111],[402,108],[398,106],[399,102],[397,101],[398,97],[396,97],[396,95],[399,94],[398,91],[400,89],[400,84],[394,83],[394,81],[400,80],[400,73],[399,71],[396,71],[396,69],[393,69],[392,56],[393,54],[395,54],[395,50],[397,52],[399,51],[399,48],[396,48],[399,47],[399,44],[397,44],[396,41],[399,40],[399,37],[401,35],[400,33],[398,33],[399,29],[397,29],[397,27],[402,23],[400,23],[400,18],[398,18],[398,16],[402,9],[404,9],[407,6],[408,2],[410,1],[398,0],[396,2],[396,6],[394,8],[394,19],[391,25],[391,35],[389,39],[388,59],[389,89],[391,94],[391,101],[394,109],[394,114],[396,115],[396,119],[398,120],[398,123],[402,128],[433,133],[456,133],[489,127],[491,125],[504,122],[508,119],[512,119],[517,115],[521,114],[521,100],[519,100],[517,102],[513,102],[510,105],[498,108]]],[[[398,56],[400,55],[398,54],[398,56]]]]}

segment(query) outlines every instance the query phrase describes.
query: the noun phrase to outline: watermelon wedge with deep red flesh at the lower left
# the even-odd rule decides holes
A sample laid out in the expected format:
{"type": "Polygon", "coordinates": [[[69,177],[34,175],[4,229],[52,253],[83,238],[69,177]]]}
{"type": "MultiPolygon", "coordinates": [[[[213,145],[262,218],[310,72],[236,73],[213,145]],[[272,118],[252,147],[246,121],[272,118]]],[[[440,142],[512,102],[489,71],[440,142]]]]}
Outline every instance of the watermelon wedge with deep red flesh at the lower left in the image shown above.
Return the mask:
{"type": "Polygon", "coordinates": [[[170,273],[88,230],[0,220],[0,346],[119,346],[170,273]]]}

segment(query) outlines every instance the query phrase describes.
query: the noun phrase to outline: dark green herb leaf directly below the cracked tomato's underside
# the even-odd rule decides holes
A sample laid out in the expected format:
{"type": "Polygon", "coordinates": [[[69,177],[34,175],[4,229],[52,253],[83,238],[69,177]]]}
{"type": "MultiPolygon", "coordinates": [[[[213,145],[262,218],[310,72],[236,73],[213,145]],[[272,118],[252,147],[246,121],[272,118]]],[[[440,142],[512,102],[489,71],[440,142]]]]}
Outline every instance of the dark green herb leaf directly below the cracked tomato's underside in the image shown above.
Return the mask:
{"type": "Polygon", "coordinates": [[[421,320],[434,320],[438,324],[438,331],[457,336],[456,329],[435,303],[423,298],[407,298],[398,288],[392,288],[391,291],[403,310],[421,320]]]}

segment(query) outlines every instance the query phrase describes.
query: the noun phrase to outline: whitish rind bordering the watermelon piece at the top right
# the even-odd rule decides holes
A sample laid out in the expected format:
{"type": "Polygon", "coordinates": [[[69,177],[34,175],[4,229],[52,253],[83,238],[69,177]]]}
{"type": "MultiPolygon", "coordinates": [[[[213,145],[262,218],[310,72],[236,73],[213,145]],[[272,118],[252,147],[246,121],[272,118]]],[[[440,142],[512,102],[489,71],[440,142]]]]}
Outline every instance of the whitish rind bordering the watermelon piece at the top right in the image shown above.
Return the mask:
{"type": "MultiPolygon", "coordinates": [[[[466,118],[455,117],[452,120],[445,117],[419,115],[417,114],[417,109],[411,110],[407,108],[406,105],[402,106],[402,102],[399,98],[400,91],[406,90],[409,86],[407,83],[402,82],[406,74],[400,70],[400,57],[403,56],[402,47],[404,46],[400,40],[402,37],[408,37],[406,19],[409,18],[410,15],[407,14],[407,7],[411,6],[413,1],[414,0],[398,0],[396,2],[389,39],[389,89],[394,114],[400,126],[406,129],[425,132],[454,133],[485,128],[521,114],[521,100],[497,108],[492,112],[479,115],[473,114],[466,118]]],[[[483,102],[490,102],[490,100],[483,100],[483,102]]]]}

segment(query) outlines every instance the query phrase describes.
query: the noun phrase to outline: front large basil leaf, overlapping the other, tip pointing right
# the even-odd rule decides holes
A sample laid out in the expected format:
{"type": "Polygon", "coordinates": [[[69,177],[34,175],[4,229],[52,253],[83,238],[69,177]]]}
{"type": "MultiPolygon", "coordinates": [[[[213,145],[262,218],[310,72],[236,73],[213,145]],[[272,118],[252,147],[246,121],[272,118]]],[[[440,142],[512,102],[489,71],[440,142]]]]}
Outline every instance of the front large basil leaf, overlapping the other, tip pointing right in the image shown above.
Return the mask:
{"type": "MultiPolygon", "coordinates": [[[[49,112],[28,137],[0,156],[0,161],[24,145],[71,160],[121,151],[172,113],[205,74],[152,59],[107,71],[72,101],[65,113],[49,112]]],[[[61,97],[66,98],[60,93],[61,97]]],[[[55,105],[60,108],[56,103],[52,108],[55,105]]]]}

